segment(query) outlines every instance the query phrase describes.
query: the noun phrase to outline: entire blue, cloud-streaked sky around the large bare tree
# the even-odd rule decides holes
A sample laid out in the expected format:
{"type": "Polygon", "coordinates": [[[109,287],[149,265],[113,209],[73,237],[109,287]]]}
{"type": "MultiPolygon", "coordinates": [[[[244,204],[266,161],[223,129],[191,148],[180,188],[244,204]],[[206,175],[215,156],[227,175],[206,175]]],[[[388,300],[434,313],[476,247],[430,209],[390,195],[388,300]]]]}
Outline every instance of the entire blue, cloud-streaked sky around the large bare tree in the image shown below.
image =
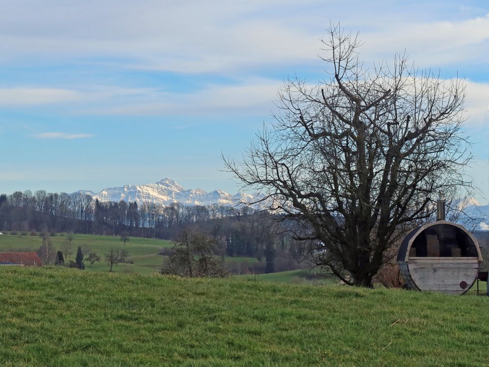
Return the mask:
{"type": "Polygon", "coordinates": [[[0,0],[0,192],[95,192],[171,177],[239,185],[284,79],[325,77],[330,22],[367,62],[411,55],[467,83],[467,169],[489,201],[489,3],[328,0],[0,0]]]}

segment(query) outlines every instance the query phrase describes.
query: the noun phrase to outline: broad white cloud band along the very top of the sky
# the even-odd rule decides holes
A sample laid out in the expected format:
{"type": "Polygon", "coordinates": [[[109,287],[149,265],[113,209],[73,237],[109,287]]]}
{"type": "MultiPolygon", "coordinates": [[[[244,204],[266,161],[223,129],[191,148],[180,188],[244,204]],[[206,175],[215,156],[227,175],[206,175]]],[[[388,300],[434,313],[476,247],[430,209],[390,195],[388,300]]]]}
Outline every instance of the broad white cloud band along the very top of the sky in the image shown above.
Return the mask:
{"type": "Polygon", "coordinates": [[[134,68],[236,72],[316,61],[318,38],[330,19],[359,30],[367,53],[391,55],[406,48],[421,65],[434,66],[487,54],[487,47],[477,47],[489,40],[483,9],[468,19],[458,9],[458,19],[435,21],[448,8],[445,3],[423,4],[431,19],[416,6],[379,11],[378,1],[370,3],[19,0],[2,5],[0,60],[117,57],[134,68]],[[352,7],[355,12],[348,11],[352,7]]]}

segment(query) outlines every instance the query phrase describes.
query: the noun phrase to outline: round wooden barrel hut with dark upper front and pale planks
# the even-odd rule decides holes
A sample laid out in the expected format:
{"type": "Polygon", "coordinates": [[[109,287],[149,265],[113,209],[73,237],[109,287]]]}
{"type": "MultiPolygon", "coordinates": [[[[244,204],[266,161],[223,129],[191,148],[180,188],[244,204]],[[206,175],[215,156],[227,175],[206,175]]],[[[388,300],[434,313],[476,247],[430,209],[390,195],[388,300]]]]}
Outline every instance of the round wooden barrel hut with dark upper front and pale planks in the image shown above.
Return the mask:
{"type": "Polygon", "coordinates": [[[439,220],[409,232],[397,260],[408,288],[461,295],[477,279],[482,256],[464,226],[439,220]]]}

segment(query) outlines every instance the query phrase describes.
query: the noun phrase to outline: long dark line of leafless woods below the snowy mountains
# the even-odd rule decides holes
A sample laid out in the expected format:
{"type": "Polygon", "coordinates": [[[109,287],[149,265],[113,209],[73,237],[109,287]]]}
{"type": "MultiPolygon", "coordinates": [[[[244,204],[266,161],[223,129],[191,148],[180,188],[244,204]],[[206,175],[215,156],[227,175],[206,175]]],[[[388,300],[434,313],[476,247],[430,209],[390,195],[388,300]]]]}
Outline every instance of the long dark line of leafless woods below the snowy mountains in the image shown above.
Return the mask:
{"type": "Polygon", "coordinates": [[[298,244],[281,233],[268,213],[249,207],[186,206],[172,203],[100,202],[84,193],[16,191],[0,195],[0,228],[25,232],[65,232],[163,238],[174,240],[189,225],[210,235],[216,252],[231,257],[256,257],[265,261],[267,273],[289,268],[300,252],[298,244]]]}

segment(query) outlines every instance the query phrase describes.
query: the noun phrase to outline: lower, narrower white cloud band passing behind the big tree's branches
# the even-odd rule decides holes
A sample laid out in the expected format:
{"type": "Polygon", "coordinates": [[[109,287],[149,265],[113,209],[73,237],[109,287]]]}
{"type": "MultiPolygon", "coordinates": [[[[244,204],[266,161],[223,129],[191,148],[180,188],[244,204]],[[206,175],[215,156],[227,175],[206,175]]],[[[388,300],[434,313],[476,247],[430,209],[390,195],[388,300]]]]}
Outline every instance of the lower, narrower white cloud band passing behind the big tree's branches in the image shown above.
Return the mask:
{"type": "MultiPolygon", "coordinates": [[[[224,114],[238,112],[267,116],[281,80],[251,78],[230,85],[211,84],[195,92],[167,92],[156,88],[89,86],[76,90],[52,88],[0,89],[0,105],[28,106],[69,103],[75,115],[224,114]]],[[[489,83],[466,80],[467,126],[489,122],[489,83]]]]}

